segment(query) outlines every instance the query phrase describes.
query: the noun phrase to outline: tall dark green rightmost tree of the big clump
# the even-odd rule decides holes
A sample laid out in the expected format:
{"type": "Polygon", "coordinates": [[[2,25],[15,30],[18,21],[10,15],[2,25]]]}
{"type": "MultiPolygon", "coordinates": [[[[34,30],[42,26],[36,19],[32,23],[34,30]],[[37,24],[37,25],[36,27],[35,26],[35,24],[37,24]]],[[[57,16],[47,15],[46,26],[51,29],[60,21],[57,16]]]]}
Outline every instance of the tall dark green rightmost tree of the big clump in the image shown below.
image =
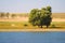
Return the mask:
{"type": "Polygon", "coordinates": [[[51,11],[52,9],[51,9],[51,6],[49,5],[49,6],[47,6],[47,19],[46,19],[46,25],[47,25],[47,28],[50,26],[50,24],[51,24],[51,22],[52,22],[52,17],[51,17],[51,15],[52,15],[52,11],[51,11]]]}

